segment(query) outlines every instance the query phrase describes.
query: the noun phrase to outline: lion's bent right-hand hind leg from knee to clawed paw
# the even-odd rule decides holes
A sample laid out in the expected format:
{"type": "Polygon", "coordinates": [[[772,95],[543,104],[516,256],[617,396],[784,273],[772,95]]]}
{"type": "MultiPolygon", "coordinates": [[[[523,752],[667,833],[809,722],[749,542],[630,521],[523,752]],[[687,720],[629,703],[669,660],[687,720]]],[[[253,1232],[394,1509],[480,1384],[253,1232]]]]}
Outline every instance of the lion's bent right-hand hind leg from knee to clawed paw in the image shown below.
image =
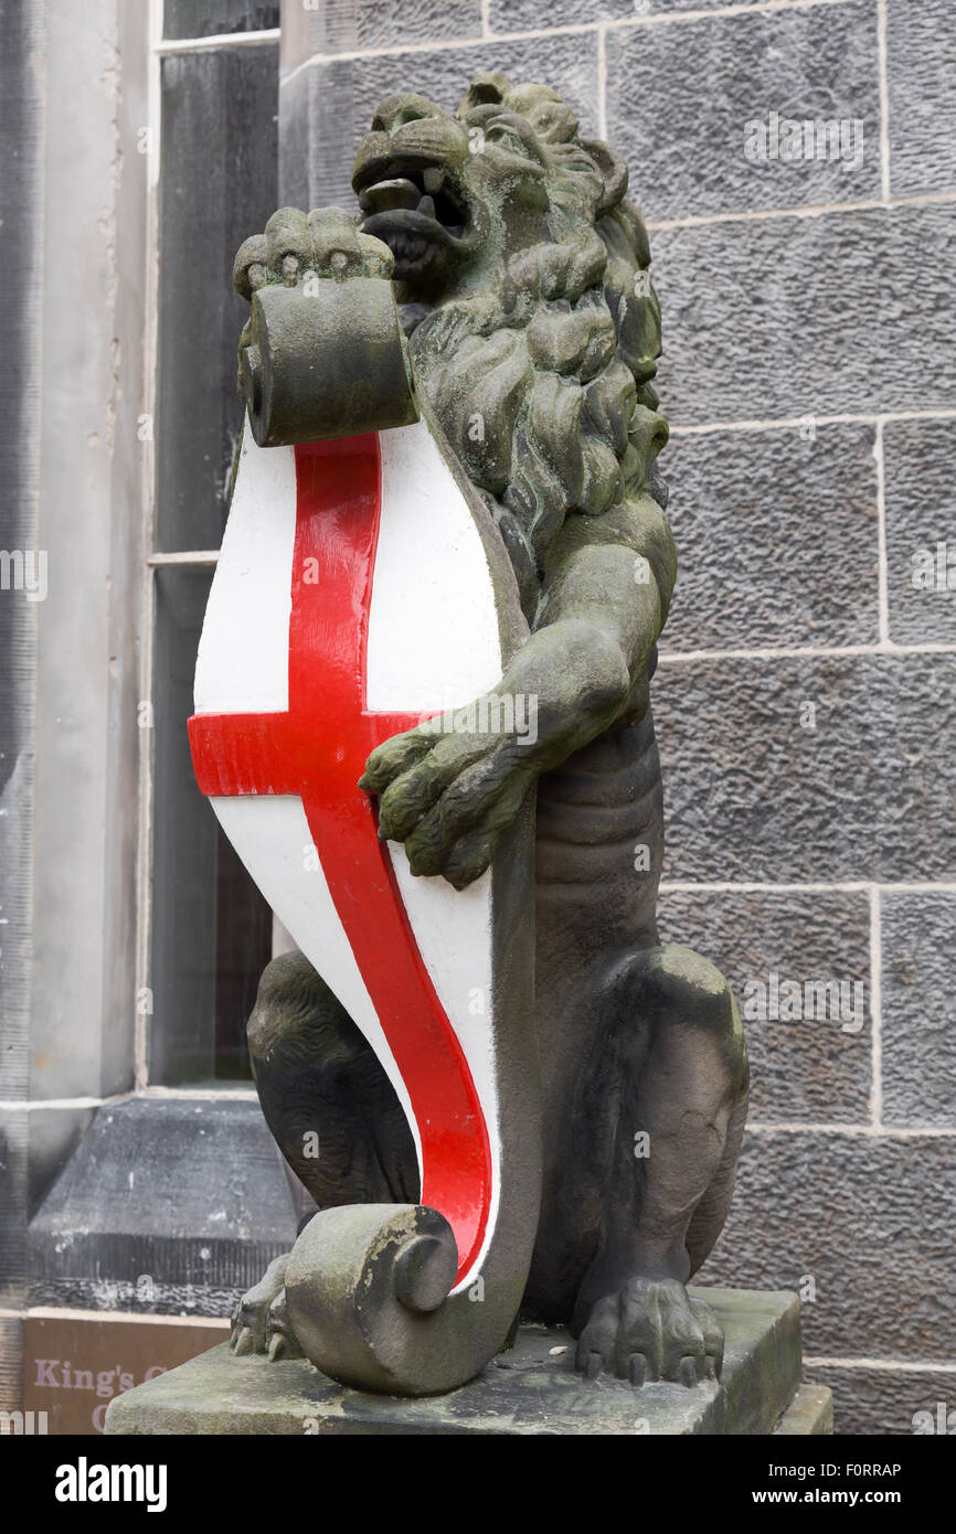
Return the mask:
{"type": "Polygon", "coordinates": [[[686,1293],[723,1226],[747,1097],[747,1052],[720,971],[689,948],[638,951],[608,991],[617,1132],[600,1250],[572,1318],[579,1367],[692,1385],[723,1341],[686,1293]]]}

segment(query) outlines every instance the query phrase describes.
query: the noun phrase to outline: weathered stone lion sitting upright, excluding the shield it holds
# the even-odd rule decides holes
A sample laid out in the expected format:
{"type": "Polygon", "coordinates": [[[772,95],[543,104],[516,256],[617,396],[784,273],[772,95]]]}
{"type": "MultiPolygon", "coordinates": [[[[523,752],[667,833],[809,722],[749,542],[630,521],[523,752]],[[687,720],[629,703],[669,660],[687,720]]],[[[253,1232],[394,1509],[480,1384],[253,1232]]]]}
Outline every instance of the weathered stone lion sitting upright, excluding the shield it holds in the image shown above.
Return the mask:
{"type": "MultiPolygon", "coordinates": [[[[663,795],[649,681],[677,557],[657,457],[660,305],[628,169],[539,84],[476,78],[456,114],[382,101],[356,221],[282,209],[246,241],[252,299],[347,264],[391,275],[424,393],[506,548],[531,635],[503,686],[537,741],[397,735],[368,758],[381,833],[456,888],[537,790],[536,1019],[543,1195],[522,1315],[577,1367],[641,1385],[718,1378],[686,1284],[727,1213],[747,1055],[724,977],[661,945],[663,795]],[[649,1146],[649,1154],[644,1149],[649,1146]]],[[[373,1051],[301,953],[262,976],[249,1043],[265,1118],[319,1209],[414,1203],[417,1166],[373,1051]],[[307,1160],[302,1129],[322,1123],[307,1160]]],[[[238,1353],[295,1353],[284,1259],[239,1304],[238,1353]]]]}

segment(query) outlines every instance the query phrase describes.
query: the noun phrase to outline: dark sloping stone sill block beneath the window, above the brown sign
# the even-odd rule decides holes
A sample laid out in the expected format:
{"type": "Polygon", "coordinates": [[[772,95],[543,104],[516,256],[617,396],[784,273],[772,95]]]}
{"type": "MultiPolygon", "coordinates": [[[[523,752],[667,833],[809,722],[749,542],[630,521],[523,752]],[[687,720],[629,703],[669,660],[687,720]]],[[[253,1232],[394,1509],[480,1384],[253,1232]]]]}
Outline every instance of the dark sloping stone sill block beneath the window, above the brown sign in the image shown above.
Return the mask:
{"type": "Polygon", "coordinates": [[[295,1230],[258,1103],[132,1098],[97,1112],[31,1221],[29,1299],[229,1315],[295,1230]]]}

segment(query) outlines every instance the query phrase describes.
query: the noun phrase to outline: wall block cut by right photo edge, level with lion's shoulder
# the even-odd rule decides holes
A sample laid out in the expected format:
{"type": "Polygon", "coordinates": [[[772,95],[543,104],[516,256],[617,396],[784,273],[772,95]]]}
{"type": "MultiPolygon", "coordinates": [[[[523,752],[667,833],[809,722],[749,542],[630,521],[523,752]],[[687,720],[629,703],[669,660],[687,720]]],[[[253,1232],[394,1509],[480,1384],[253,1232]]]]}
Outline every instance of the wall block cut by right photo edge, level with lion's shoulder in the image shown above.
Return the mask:
{"type": "Polygon", "coordinates": [[[888,420],[882,443],[890,638],[896,644],[953,644],[956,420],[888,420]],[[939,543],[945,545],[942,555],[939,543]],[[933,561],[928,591],[913,584],[913,574],[924,568],[927,554],[933,561]]]}

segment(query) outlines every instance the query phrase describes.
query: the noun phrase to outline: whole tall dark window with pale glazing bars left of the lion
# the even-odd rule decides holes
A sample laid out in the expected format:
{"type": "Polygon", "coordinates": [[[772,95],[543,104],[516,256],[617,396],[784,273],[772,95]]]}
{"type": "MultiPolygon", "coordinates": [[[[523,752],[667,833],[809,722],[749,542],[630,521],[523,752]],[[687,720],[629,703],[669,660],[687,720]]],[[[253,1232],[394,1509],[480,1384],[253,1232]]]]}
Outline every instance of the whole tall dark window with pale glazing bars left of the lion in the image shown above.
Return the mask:
{"type": "MultiPolygon", "coordinates": [[[[269,5],[166,3],[167,37],[276,23],[269,5]]],[[[272,953],[272,911],[195,785],[186,721],[242,425],[232,262],[278,201],[278,44],[166,54],[161,110],[146,1005],[149,1081],[175,1086],[249,1078],[246,1020],[272,953]]]]}

